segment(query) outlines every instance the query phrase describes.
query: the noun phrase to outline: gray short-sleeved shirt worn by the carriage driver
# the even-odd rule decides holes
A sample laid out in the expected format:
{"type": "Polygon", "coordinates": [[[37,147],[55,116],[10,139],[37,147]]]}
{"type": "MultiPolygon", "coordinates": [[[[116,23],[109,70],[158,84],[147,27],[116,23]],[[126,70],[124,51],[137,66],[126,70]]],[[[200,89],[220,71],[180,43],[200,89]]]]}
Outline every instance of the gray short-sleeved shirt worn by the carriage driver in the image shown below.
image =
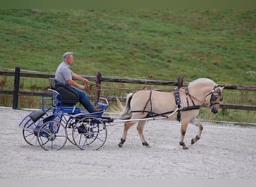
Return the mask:
{"type": "Polygon", "coordinates": [[[73,72],[70,70],[70,65],[68,65],[65,61],[62,61],[61,64],[58,65],[55,72],[55,79],[57,82],[67,85],[67,81],[72,80],[72,73],[73,72]]]}

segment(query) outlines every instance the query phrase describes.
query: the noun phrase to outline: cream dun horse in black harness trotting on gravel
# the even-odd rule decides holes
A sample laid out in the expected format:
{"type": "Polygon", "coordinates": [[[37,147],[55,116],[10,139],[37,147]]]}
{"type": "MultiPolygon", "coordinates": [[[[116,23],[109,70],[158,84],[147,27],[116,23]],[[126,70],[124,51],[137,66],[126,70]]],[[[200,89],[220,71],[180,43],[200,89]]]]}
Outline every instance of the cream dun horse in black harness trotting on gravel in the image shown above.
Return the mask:
{"type": "Polygon", "coordinates": [[[137,130],[141,143],[145,147],[150,147],[143,135],[144,124],[150,117],[155,119],[160,116],[166,120],[181,121],[180,146],[187,150],[188,147],[184,143],[187,126],[189,123],[198,126],[198,134],[191,141],[191,144],[195,144],[201,138],[203,130],[203,125],[197,118],[200,108],[208,107],[216,114],[219,111],[219,102],[223,99],[223,88],[211,79],[200,78],[189,82],[186,88],[172,92],[141,90],[127,94],[126,105],[121,114],[121,119],[125,122],[124,132],[118,146],[124,146],[129,128],[138,123],[137,130]]]}

